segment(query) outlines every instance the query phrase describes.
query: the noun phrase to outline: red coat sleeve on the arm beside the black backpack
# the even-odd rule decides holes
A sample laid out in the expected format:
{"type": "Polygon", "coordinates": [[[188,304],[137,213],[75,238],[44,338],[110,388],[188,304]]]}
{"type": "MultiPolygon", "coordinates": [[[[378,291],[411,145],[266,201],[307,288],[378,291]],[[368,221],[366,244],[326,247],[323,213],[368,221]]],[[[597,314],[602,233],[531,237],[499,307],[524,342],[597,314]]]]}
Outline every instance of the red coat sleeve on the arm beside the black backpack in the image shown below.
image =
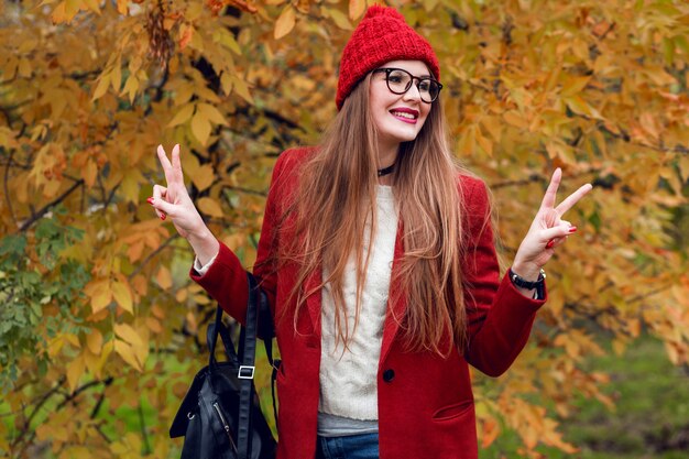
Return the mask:
{"type": "MultiPolygon", "coordinates": [[[[277,243],[274,228],[277,219],[276,208],[283,182],[285,153],[280,155],[273,168],[253,272],[259,286],[267,296],[271,312],[273,313],[275,310],[276,273],[267,260],[277,243]]],[[[192,267],[189,276],[204,287],[226,313],[243,325],[247,317],[247,302],[249,300],[247,271],[237,255],[225,243],[219,242],[220,251],[206,274],[199,275],[192,267]]]]}

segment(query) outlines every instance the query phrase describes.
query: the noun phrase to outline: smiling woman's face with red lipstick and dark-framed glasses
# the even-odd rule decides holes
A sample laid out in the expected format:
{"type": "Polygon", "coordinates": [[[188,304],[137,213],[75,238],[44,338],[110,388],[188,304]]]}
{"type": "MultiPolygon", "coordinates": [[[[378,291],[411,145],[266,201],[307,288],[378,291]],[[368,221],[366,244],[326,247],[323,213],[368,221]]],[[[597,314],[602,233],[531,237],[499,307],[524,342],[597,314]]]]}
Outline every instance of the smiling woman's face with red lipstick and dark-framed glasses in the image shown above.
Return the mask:
{"type": "MultiPolygon", "coordinates": [[[[401,68],[415,77],[430,77],[430,72],[422,61],[391,61],[379,68],[401,68]]],[[[394,74],[391,76],[394,77],[394,74]]],[[[369,109],[378,128],[379,149],[396,149],[401,142],[416,139],[424,127],[430,103],[422,100],[418,80],[402,95],[392,92],[385,81],[385,72],[375,72],[371,76],[369,109]]]]}

